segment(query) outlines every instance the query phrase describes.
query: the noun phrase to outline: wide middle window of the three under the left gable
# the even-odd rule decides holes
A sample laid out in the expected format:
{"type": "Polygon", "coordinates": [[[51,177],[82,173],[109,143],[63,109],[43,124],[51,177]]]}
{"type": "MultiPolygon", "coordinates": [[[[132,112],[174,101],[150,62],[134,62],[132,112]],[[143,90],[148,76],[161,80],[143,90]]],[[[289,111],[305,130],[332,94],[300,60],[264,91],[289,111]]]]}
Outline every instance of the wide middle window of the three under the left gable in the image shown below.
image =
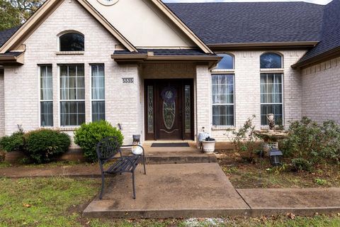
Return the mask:
{"type": "Polygon", "coordinates": [[[85,122],[84,65],[60,65],[60,125],[85,122]]]}

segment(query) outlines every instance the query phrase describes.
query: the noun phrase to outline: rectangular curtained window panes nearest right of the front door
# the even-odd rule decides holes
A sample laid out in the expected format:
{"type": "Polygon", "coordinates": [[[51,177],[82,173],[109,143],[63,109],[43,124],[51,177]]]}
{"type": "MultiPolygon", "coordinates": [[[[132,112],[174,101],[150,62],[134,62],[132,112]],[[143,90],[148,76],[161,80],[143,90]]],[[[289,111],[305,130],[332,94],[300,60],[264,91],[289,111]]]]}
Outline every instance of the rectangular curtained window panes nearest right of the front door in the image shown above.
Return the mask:
{"type": "Polygon", "coordinates": [[[212,74],[212,124],[234,126],[234,74],[212,74]]]}

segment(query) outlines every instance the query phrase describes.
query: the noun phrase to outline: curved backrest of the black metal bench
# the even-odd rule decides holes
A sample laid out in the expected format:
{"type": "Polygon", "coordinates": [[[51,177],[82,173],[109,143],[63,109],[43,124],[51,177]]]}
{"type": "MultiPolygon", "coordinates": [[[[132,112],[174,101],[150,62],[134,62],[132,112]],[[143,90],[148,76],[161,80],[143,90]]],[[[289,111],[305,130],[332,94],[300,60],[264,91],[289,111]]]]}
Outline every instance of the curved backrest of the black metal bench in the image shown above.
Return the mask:
{"type": "Polygon", "coordinates": [[[97,156],[98,161],[105,163],[111,157],[120,153],[120,145],[118,143],[118,138],[115,136],[106,137],[101,142],[97,144],[97,156]]]}

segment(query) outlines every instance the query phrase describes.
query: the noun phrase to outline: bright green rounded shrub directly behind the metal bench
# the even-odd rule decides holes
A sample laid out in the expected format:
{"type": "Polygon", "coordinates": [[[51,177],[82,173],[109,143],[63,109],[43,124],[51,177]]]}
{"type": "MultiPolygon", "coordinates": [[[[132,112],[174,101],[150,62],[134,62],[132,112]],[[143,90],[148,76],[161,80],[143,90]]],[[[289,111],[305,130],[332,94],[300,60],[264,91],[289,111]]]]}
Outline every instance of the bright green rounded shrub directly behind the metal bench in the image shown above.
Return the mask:
{"type": "Polygon", "coordinates": [[[108,121],[84,123],[74,132],[74,143],[83,149],[87,160],[96,162],[96,145],[108,136],[117,137],[119,145],[123,144],[123,134],[108,121]]]}

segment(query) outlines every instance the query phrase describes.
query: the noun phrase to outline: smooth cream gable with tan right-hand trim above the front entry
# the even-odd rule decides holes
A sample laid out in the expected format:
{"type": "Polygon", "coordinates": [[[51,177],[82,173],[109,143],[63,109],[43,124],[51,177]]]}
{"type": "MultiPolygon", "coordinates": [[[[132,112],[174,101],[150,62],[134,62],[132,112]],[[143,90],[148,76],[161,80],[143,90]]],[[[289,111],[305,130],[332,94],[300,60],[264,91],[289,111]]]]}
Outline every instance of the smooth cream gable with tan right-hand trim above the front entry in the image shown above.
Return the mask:
{"type": "Polygon", "coordinates": [[[87,0],[136,48],[200,48],[212,51],[159,0],[118,1],[104,6],[87,0]]]}

